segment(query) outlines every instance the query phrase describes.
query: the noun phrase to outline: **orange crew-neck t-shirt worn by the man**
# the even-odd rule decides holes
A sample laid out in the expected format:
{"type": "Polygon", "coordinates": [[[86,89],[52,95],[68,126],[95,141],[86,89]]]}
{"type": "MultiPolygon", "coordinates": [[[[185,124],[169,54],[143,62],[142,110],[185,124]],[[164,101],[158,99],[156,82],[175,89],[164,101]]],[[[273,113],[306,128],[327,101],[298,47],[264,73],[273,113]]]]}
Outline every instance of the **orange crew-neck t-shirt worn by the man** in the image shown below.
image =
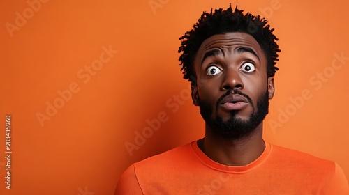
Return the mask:
{"type": "Polygon", "coordinates": [[[267,142],[265,146],[251,164],[225,166],[193,141],[128,167],[115,194],[349,194],[336,163],[267,142]]]}

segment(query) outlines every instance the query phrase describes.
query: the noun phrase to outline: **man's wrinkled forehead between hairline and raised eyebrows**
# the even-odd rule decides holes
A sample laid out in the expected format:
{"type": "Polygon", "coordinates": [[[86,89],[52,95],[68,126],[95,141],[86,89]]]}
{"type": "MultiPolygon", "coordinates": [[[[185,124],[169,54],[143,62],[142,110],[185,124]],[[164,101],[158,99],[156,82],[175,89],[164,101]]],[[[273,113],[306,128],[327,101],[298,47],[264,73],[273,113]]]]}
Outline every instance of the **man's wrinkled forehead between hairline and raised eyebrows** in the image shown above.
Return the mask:
{"type": "Polygon", "coordinates": [[[230,32],[214,35],[204,40],[198,49],[195,61],[202,59],[205,52],[214,48],[221,49],[223,52],[229,52],[238,47],[249,47],[253,49],[260,58],[265,59],[265,54],[262,52],[262,48],[253,36],[247,33],[230,32]]]}

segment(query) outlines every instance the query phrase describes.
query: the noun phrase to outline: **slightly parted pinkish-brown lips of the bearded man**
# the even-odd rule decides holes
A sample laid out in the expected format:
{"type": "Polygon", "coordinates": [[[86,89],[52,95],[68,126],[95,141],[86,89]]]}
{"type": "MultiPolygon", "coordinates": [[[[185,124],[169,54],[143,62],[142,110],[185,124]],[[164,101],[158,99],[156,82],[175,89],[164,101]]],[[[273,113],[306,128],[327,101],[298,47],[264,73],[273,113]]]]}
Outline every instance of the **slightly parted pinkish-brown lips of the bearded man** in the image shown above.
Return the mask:
{"type": "Polygon", "coordinates": [[[242,110],[248,106],[248,101],[242,95],[228,95],[221,101],[219,107],[225,111],[242,110]]]}

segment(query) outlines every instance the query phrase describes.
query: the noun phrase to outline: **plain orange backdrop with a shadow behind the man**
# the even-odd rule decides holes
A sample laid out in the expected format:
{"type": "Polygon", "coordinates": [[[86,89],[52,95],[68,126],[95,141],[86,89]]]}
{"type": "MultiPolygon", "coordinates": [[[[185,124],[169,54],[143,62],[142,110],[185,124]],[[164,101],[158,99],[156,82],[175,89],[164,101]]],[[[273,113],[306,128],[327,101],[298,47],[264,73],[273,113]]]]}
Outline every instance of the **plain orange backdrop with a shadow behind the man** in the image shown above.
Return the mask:
{"type": "Polygon", "coordinates": [[[265,139],[334,160],[349,178],[348,2],[1,1],[0,194],[113,194],[133,162],[203,137],[179,72],[178,38],[203,10],[230,2],[267,17],[280,39],[265,139]],[[20,26],[18,15],[27,17],[17,19],[20,26]],[[9,23],[17,29],[8,30],[9,23]],[[117,53],[107,61],[103,47],[117,53]],[[341,53],[346,59],[334,70],[341,53]],[[87,72],[100,55],[107,62],[87,72]],[[304,90],[309,94],[300,100],[304,90]],[[47,115],[54,102],[60,108],[40,124],[38,113],[47,115]],[[125,143],[135,143],[135,132],[163,113],[168,120],[131,156],[125,143]],[[6,114],[11,190],[2,157],[6,114]]]}

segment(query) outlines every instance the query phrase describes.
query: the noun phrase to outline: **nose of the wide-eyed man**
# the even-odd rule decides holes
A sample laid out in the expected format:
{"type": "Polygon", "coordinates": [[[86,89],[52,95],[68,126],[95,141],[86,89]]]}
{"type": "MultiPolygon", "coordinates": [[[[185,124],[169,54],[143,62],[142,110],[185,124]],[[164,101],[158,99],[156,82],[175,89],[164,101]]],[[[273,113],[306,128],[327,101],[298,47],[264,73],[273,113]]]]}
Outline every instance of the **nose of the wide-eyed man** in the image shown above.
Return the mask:
{"type": "Polygon", "coordinates": [[[232,70],[229,68],[225,72],[225,77],[221,86],[222,91],[239,89],[242,90],[244,88],[244,83],[239,75],[239,70],[232,70]]]}

